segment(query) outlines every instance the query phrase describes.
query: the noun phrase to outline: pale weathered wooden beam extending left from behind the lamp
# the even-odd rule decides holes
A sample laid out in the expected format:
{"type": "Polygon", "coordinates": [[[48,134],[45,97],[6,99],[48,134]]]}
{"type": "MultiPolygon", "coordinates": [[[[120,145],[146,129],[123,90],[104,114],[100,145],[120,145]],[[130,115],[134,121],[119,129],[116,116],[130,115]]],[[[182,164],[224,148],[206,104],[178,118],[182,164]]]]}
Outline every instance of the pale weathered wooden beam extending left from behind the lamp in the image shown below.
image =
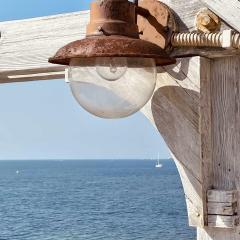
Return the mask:
{"type": "Polygon", "coordinates": [[[63,45],[85,37],[89,11],[0,23],[0,83],[63,78],[48,63],[63,45]]]}

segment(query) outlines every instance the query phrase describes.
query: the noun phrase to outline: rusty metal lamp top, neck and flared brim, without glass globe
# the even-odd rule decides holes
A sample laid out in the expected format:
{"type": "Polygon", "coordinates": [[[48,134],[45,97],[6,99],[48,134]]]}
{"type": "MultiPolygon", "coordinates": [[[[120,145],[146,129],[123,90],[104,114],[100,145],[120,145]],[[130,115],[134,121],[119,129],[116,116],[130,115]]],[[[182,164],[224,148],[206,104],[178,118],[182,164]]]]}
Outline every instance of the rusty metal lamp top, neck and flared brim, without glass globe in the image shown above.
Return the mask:
{"type": "Polygon", "coordinates": [[[85,39],[67,44],[50,63],[69,65],[73,58],[153,58],[157,66],[175,63],[157,44],[139,38],[136,5],[127,0],[102,0],[91,4],[85,39]]]}

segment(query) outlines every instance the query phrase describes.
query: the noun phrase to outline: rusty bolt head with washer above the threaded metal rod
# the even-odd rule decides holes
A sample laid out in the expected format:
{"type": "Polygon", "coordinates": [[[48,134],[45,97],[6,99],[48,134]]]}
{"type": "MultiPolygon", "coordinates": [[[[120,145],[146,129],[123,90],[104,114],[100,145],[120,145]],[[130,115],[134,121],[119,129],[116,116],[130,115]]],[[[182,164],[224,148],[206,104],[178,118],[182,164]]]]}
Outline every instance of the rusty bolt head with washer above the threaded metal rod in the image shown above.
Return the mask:
{"type": "Polygon", "coordinates": [[[220,18],[207,8],[201,9],[196,16],[196,29],[204,33],[219,31],[221,27],[220,18]]]}

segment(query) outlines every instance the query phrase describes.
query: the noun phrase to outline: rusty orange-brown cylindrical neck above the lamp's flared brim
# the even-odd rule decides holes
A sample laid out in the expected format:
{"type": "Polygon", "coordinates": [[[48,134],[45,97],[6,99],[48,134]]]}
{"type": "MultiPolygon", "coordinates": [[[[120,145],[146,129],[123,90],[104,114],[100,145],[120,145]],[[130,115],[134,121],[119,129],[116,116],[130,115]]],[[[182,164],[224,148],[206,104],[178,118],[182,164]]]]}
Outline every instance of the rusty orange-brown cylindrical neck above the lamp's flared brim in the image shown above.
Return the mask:
{"type": "Polygon", "coordinates": [[[136,5],[127,0],[104,0],[91,3],[87,36],[121,35],[139,38],[136,5]]]}

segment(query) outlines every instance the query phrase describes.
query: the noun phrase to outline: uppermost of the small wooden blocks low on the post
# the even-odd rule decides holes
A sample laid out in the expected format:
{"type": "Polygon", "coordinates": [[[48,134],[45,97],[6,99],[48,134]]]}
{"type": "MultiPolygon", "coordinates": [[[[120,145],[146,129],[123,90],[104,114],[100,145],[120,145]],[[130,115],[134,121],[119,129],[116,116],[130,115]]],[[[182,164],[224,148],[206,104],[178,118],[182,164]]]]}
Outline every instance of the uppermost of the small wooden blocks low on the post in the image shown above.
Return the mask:
{"type": "Polygon", "coordinates": [[[237,191],[208,190],[208,202],[234,203],[237,201],[237,191]]]}

